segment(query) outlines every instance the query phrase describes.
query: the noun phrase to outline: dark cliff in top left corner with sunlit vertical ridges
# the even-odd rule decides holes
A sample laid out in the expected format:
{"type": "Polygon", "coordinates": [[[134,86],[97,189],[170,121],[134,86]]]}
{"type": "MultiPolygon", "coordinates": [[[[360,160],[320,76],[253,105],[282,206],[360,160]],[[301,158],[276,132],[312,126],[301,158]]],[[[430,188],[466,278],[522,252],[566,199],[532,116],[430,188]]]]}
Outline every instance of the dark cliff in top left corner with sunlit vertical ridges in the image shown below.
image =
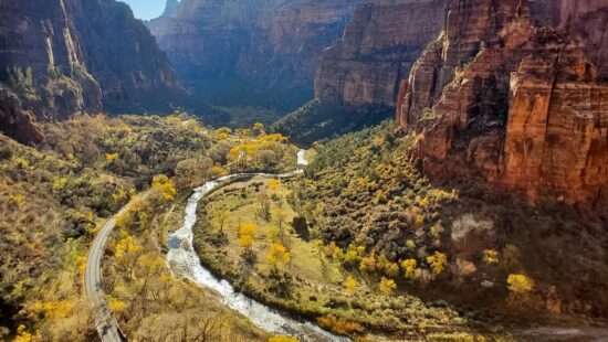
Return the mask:
{"type": "Polygon", "coordinates": [[[2,79],[39,118],[66,118],[102,107],[101,87],[87,70],[69,4],[0,2],[2,79]],[[21,75],[28,68],[31,79],[25,81],[21,75]]]}

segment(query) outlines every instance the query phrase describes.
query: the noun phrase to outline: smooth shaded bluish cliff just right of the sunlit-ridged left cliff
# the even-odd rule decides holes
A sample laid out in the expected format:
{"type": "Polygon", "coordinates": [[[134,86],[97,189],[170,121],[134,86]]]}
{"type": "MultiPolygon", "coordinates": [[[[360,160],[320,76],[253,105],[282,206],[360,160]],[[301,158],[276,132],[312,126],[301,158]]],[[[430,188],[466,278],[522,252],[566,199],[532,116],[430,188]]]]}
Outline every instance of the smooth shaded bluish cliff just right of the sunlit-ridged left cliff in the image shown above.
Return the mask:
{"type": "Polygon", "coordinates": [[[105,110],[169,110],[182,94],[165,53],[130,9],[115,0],[71,0],[85,64],[105,110]]]}

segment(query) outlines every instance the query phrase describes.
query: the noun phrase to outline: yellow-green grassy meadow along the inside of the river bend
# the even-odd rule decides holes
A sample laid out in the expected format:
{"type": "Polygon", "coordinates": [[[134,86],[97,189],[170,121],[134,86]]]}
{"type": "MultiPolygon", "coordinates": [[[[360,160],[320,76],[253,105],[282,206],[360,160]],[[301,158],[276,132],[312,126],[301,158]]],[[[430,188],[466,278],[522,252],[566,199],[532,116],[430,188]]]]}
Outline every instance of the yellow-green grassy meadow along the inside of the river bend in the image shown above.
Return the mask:
{"type": "MultiPolygon", "coordinates": [[[[300,180],[285,181],[275,190],[270,189],[270,182],[254,178],[228,185],[202,200],[195,226],[195,248],[202,263],[212,271],[228,279],[239,290],[271,306],[313,319],[331,318],[326,321],[333,325],[327,328],[343,333],[344,327],[352,325],[364,327],[367,332],[409,331],[415,335],[423,334],[427,330],[450,332],[465,329],[467,320],[443,304],[428,306],[406,292],[397,297],[378,295],[378,277],[344,268],[328,257],[324,249],[319,254],[314,241],[304,241],[291,225],[286,228],[284,245],[289,248],[292,261],[289,266],[280,267],[291,277],[291,285],[286,285],[289,295],[273,291],[272,284],[276,280],[266,255],[271,244],[269,233],[277,229],[277,223],[274,215],[271,222],[261,217],[258,196],[263,192],[274,196],[272,209],[275,210],[279,205],[276,197],[290,197],[300,180]],[[220,229],[214,217],[218,212],[226,210],[230,211],[230,218],[224,226],[226,238],[222,241],[218,238],[220,229]],[[244,249],[239,245],[239,228],[244,223],[256,225],[252,247],[256,261],[251,268],[244,264],[244,249]],[[356,281],[353,292],[345,289],[347,277],[356,281]]],[[[286,201],[282,207],[285,221],[291,223],[297,215],[296,211],[286,201]]],[[[347,333],[357,334],[356,331],[347,333]]]]}

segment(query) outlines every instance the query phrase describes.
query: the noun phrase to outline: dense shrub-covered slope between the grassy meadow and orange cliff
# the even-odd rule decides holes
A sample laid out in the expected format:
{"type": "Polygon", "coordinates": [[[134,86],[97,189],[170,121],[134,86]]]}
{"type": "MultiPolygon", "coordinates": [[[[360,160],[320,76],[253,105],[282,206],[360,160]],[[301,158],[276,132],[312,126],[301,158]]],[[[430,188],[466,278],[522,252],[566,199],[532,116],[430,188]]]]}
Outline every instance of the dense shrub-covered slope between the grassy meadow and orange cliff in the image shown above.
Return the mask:
{"type": "Polygon", "coordinates": [[[431,182],[409,154],[415,138],[391,130],[319,146],[298,192],[312,236],[345,269],[485,322],[607,317],[606,206],[532,206],[475,180],[431,182]]]}

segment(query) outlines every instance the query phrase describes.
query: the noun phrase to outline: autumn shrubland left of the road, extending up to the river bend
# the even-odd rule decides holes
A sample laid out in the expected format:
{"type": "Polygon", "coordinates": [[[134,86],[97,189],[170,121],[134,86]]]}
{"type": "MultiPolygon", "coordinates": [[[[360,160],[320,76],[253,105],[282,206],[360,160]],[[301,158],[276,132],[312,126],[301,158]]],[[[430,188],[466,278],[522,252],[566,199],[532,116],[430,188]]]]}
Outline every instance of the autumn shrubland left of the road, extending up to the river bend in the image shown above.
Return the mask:
{"type": "MultiPolygon", "coordinates": [[[[45,140],[35,147],[0,136],[0,333],[23,339],[94,339],[96,331],[83,297],[88,245],[105,220],[139,193],[169,185],[176,185],[177,193],[233,170],[258,170],[266,163],[279,170],[295,164],[294,148],[280,135],[266,135],[262,125],[234,132],[212,130],[176,113],[168,117],[82,116],[42,126],[45,140]],[[244,150],[254,162],[242,167],[238,158],[230,160],[234,149],[244,150]]],[[[158,201],[137,203],[141,207],[129,220],[138,225],[125,226],[119,234],[127,232],[148,247],[145,236],[160,236],[168,229],[157,222],[164,206],[158,201]]],[[[159,257],[160,253],[146,261],[159,266],[159,257]]],[[[195,295],[188,284],[175,279],[170,284],[171,289],[186,293],[179,298],[190,298],[182,308],[192,309],[196,300],[191,298],[202,296],[195,295]]],[[[114,303],[125,312],[132,306],[128,300],[114,303]]],[[[139,322],[154,319],[165,324],[165,314],[167,322],[178,321],[174,304],[167,306],[172,311],[157,309],[139,317],[139,322]]],[[[196,313],[191,319],[211,314],[203,311],[191,312],[196,313]]]]}

